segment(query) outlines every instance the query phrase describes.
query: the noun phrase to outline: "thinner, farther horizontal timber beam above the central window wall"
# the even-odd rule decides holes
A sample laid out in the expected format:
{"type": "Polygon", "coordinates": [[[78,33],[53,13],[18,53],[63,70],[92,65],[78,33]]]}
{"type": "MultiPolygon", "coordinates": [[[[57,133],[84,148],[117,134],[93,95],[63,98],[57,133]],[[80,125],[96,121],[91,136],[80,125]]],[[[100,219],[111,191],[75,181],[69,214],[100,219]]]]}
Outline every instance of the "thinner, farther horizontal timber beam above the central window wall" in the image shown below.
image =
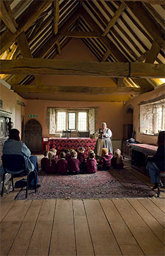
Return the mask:
{"type": "Polygon", "coordinates": [[[141,88],[132,87],[86,87],[86,86],[35,86],[35,85],[16,85],[12,86],[12,90],[17,93],[43,93],[43,92],[74,92],[74,93],[92,93],[92,94],[131,94],[138,95],[141,88]]]}

